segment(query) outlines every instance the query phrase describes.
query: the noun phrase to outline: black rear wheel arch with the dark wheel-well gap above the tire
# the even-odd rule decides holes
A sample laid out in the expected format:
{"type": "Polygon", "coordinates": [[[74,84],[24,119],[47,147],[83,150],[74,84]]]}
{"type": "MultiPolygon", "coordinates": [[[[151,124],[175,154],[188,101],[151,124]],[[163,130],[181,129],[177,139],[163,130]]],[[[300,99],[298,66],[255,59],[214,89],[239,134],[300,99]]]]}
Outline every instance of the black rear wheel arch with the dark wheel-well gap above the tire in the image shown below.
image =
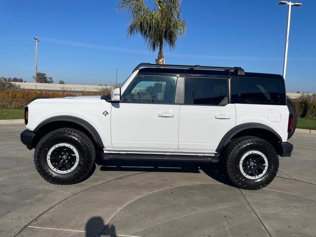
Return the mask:
{"type": "Polygon", "coordinates": [[[242,123],[233,127],[223,136],[216,148],[216,152],[221,153],[232,139],[241,136],[256,136],[262,138],[271,143],[277,153],[279,153],[279,144],[282,142],[280,135],[277,134],[273,128],[256,122],[242,123]]]}

